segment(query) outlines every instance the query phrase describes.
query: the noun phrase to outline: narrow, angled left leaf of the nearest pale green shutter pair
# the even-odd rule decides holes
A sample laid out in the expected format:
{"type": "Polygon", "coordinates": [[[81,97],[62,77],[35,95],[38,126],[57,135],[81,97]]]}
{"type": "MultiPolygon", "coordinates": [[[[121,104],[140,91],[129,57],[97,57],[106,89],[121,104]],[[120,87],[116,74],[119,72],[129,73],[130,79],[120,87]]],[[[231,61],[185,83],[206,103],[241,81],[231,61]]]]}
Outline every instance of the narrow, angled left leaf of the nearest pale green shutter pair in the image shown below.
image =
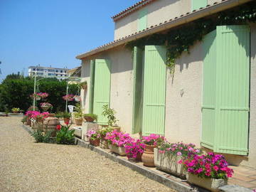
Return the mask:
{"type": "Polygon", "coordinates": [[[203,38],[203,106],[201,145],[213,149],[215,129],[216,30],[203,38]]]}

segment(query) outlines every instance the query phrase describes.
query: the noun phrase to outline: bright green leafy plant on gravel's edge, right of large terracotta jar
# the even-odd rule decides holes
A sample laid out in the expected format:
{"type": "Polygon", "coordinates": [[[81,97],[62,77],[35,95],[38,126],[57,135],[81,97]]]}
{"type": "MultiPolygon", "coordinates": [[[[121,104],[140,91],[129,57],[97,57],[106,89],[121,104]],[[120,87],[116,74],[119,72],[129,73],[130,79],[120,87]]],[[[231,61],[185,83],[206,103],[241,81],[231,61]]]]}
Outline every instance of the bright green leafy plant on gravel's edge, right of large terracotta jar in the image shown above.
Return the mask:
{"type": "Polygon", "coordinates": [[[70,126],[61,126],[60,131],[57,132],[57,144],[74,144],[75,143],[75,130],[69,130],[70,126]]]}

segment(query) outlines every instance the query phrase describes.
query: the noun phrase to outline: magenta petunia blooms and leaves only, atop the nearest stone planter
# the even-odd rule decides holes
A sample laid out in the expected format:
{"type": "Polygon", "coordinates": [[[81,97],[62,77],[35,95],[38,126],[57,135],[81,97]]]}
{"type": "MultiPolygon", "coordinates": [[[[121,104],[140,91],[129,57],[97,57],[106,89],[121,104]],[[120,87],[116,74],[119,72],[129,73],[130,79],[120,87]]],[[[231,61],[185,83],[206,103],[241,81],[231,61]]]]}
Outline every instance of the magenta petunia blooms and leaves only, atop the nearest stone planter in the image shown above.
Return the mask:
{"type": "Polygon", "coordinates": [[[220,154],[191,154],[183,164],[189,173],[202,178],[226,179],[233,175],[233,169],[228,168],[228,162],[220,154]]]}

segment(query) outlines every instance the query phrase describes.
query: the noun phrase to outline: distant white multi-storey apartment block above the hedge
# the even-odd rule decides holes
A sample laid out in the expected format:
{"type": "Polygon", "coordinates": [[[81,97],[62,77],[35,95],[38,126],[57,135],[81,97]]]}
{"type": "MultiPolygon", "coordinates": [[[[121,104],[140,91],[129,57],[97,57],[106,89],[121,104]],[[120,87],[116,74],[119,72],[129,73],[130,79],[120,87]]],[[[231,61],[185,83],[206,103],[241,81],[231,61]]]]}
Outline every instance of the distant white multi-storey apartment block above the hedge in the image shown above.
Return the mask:
{"type": "Polygon", "coordinates": [[[41,66],[28,67],[28,76],[52,76],[53,78],[65,79],[68,78],[68,68],[48,68],[41,66]]]}

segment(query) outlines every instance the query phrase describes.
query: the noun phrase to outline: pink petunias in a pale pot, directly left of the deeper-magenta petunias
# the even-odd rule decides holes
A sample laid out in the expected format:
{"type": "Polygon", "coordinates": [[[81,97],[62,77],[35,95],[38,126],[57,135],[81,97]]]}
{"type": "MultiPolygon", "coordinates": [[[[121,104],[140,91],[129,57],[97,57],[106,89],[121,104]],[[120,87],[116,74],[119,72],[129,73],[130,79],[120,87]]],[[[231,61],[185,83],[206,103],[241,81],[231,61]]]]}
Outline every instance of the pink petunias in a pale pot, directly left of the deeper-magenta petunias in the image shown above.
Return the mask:
{"type": "Polygon", "coordinates": [[[105,139],[110,142],[110,151],[120,156],[126,155],[124,146],[133,141],[132,137],[129,137],[129,134],[117,132],[117,130],[108,132],[105,139]]]}

